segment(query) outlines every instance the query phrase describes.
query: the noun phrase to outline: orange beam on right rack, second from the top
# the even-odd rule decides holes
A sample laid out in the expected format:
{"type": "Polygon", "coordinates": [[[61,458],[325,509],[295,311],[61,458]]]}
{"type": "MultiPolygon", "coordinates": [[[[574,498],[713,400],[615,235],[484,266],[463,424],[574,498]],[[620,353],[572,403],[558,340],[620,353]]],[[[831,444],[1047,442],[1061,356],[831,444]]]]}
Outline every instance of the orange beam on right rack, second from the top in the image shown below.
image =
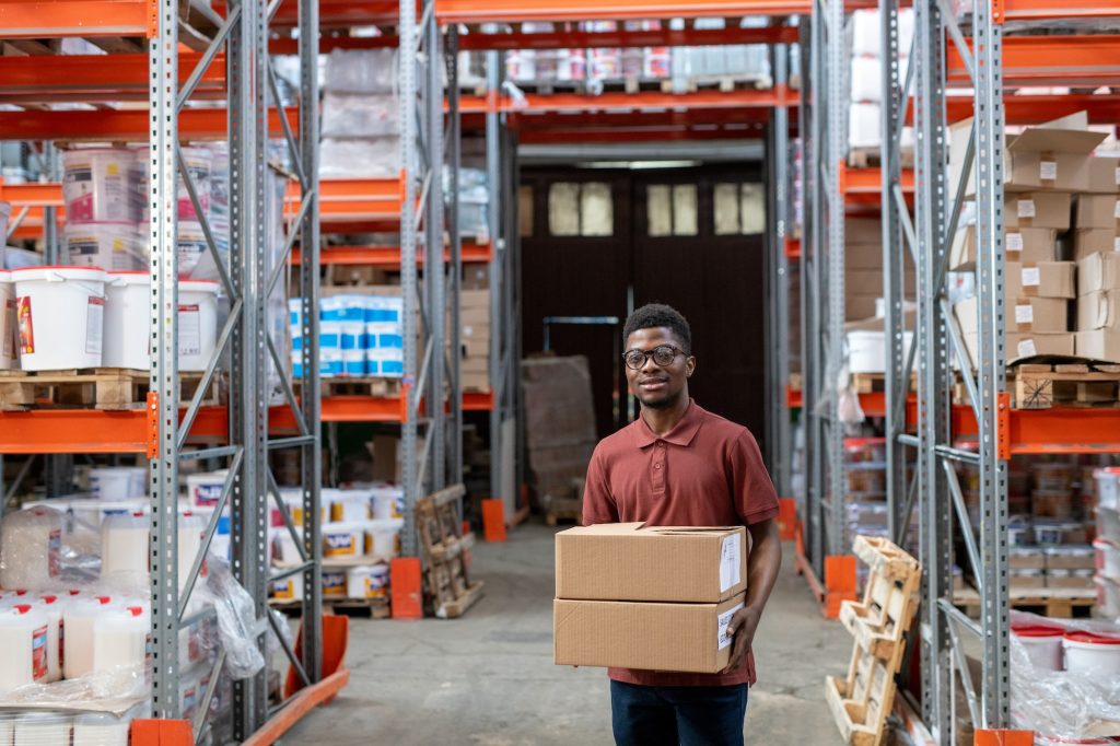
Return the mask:
{"type": "MultiPolygon", "coordinates": [[[[971,87],[956,45],[945,52],[949,84],[971,87]]],[[[1002,78],[1005,86],[1118,85],[1120,36],[1005,37],[1002,78]]]]}

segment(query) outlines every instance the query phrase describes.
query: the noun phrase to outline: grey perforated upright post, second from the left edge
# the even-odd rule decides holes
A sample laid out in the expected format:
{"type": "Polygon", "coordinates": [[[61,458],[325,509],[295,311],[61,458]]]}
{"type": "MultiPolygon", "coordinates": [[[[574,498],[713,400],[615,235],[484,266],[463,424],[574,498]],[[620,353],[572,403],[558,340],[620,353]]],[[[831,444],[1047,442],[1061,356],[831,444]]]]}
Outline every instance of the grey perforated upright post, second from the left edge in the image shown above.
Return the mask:
{"type": "MultiPolygon", "coordinates": [[[[268,613],[268,345],[264,206],[268,147],[268,7],[241,0],[241,17],[230,35],[230,260],[244,299],[235,333],[231,381],[240,395],[230,398],[235,425],[232,437],[244,444],[241,477],[231,494],[234,577],[253,597],[258,621],[268,613]]],[[[232,7],[232,6],[231,6],[232,7]]],[[[263,628],[260,632],[263,638],[263,628]]],[[[243,740],[268,718],[268,671],[234,683],[234,737],[243,740]]]]}

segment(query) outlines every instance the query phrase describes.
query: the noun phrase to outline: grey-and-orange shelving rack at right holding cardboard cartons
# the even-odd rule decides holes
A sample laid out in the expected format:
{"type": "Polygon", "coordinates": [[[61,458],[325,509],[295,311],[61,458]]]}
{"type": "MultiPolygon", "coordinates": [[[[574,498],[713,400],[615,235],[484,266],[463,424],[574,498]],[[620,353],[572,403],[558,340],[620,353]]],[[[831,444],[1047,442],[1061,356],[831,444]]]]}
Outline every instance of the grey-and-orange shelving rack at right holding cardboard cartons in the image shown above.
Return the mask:
{"type": "MultiPolygon", "coordinates": [[[[934,739],[954,737],[954,687],[963,687],[976,728],[1011,727],[1007,459],[1016,454],[1117,453],[1120,417],[1113,410],[1012,410],[1006,385],[1004,351],[1004,125],[1039,123],[1085,109],[1091,121],[1116,123],[1111,95],[1009,95],[1008,90],[1039,81],[1092,87],[1116,84],[1116,39],[1107,36],[1004,38],[1005,26],[1038,20],[1077,20],[1092,25],[1116,19],[1110,3],[1053,3],[1037,0],[979,1],[964,28],[945,3],[915,2],[911,80],[897,66],[885,66],[883,132],[884,295],[887,298],[887,435],[892,458],[917,451],[915,482],[889,484],[892,529],[904,538],[917,510],[920,552],[924,566],[922,606],[922,712],[934,739]],[[1079,20],[1080,19],[1080,20],[1079,20]],[[1103,52],[1102,52],[1103,50],[1103,52]],[[1088,55],[1088,56],[1083,56],[1088,55]],[[971,96],[946,96],[950,87],[971,88],[971,96]],[[1006,87],[1005,87],[1006,86],[1006,87]],[[969,134],[962,172],[977,171],[978,353],[973,375],[963,337],[949,305],[945,270],[956,231],[964,184],[949,178],[945,125],[978,115],[969,134]],[[899,137],[912,121],[916,129],[916,184],[913,216],[899,192],[899,137]],[[915,349],[904,356],[902,333],[903,253],[915,260],[918,308],[915,349]],[[918,372],[916,401],[907,402],[909,373],[918,372]],[[971,404],[952,403],[953,363],[971,404]],[[916,436],[912,429],[916,427],[916,436]],[[976,451],[955,447],[973,436],[976,451]],[[980,470],[980,526],[974,533],[958,484],[954,463],[980,470]],[[953,605],[952,542],[960,537],[969,568],[978,580],[981,608],[972,622],[953,605]],[[973,682],[964,654],[965,640],[982,649],[981,678],[973,682]]],[[[880,2],[884,56],[897,53],[897,0],[880,2]]],[[[1074,34],[1076,32],[1076,28],[1074,34]]],[[[905,52],[905,50],[902,50],[905,52]]]]}

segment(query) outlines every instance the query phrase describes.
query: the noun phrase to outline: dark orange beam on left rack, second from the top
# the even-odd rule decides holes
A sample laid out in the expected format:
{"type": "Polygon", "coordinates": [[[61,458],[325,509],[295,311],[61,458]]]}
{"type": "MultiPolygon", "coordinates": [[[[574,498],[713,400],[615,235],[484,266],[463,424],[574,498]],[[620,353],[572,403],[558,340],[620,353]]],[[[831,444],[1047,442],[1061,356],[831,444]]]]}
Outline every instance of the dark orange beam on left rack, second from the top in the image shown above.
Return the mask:
{"type": "MultiPolygon", "coordinates": [[[[0,36],[4,34],[0,30],[0,36]]],[[[179,54],[179,82],[194,72],[200,54],[179,54]]],[[[38,55],[0,57],[0,102],[84,103],[147,101],[148,55],[38,55]]],[[[225,56],[217,55],[199,81],[196,95],[213,97],[225,91],[225,56]]]]}

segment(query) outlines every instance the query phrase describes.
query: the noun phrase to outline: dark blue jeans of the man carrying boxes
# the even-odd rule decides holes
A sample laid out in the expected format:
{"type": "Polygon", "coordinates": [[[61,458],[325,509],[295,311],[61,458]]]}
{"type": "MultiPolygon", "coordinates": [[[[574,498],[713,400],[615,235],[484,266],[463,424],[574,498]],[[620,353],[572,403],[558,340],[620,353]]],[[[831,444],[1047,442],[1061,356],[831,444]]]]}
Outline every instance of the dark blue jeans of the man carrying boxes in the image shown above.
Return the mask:
{"type": "Polygon", "coordinates": [[[618,746],[741,746],[747,684],[638,687],[610,682],[618,746]]]}

